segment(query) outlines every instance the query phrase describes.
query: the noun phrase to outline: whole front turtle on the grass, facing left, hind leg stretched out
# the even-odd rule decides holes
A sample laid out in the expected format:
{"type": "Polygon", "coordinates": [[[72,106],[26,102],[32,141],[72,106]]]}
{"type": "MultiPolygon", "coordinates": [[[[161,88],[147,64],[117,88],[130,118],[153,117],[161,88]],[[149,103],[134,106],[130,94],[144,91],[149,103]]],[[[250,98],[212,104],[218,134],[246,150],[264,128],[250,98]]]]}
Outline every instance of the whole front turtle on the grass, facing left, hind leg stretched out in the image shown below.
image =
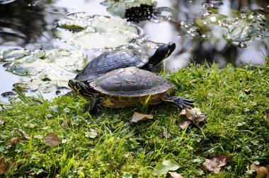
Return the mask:
{"type": "Polygon", "coordinates": [[[166,78],[137,67],[115,69],[86,82],[71,79],[68,84],[75,93],[92,100],[90,113],[96,112],[98,102],[105,107],[135,107],[143,104],[149,95],[148,105],[170,102],[181,109],[193,107],[192,100],[170,96],[173,84],[166,78]]]}

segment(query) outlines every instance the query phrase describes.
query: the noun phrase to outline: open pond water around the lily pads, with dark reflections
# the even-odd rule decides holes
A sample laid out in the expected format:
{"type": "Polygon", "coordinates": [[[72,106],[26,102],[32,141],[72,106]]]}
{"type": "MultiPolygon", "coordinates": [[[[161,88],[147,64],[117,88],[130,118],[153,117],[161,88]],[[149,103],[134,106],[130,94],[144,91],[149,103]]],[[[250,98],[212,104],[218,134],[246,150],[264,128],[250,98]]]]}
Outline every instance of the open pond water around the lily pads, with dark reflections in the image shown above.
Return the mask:
{"type": "MultiPolygon", "coordinates": [[[[59,0],[59,1],[3,1],[0,0],[0,51],[11,48],[55,49],[69,48],[60,40],[55,39],[55,24],[67,13],[86,12],[90,15],[111,16],[102,6],[101,1],[94,0],[59,0]]],[[[269,56],[268,37],[255,37],[244,43],[231,42],[223,36],[225,29],[218,26],[209,28],[210,35],[192,33],[192,23],[202,18],[205,8],[214,6],[219,14],[229,16],[233,11],[262,11],[268,13],[269,1],[164,1],[159,0],[157,7],[167,6],[173,9],[169,16],[176,22],[166,20],[142,21],[138,23],[145,38],[156,43],[176,42],[176,50],[166,60],[166,69],[171,71],[188,66],[192,61],[208,63],[215,61],[219,66],[231,63],[263,65],[263,57],[269,56]]],[[[196,32],[196,31],[195,31],[196,32]]],[[[146,50],[146,49],[145,49],[146,50]]],[[[147,49],[148,53],[154,52],[147,49]]],[[[95,57],[93,51],[87,52],[88,57],[95,57]]],[[[13,83],[22,80],[0,66],[0,93],[11,91],[13,83]]],[[[50,98],[54,93],[43,94],[50,98]]],[[[0,98],[1,100],[3,97],[0,98]]]]}

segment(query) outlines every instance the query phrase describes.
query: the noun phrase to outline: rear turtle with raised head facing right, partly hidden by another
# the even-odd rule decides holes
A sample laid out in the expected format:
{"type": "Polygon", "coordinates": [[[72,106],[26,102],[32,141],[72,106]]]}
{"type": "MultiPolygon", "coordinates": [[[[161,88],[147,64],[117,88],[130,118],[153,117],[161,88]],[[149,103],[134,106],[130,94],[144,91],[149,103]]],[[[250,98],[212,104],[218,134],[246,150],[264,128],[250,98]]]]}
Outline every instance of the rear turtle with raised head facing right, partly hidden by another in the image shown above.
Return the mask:
{"type": "Polygon", "coordinates": [[[176,44],[173,42],[161,45],[161,47],[156,49],[152,57],[132,50],[105,52],[88,62],[85,68],[77,74],[75,80],[90,81],[114,69],[129,66],[136,66],[148,71],[153,71],[153,66],[156,66],[162,60],[166,59],[166,57],[169,57],[175,48],[176,44]]]}

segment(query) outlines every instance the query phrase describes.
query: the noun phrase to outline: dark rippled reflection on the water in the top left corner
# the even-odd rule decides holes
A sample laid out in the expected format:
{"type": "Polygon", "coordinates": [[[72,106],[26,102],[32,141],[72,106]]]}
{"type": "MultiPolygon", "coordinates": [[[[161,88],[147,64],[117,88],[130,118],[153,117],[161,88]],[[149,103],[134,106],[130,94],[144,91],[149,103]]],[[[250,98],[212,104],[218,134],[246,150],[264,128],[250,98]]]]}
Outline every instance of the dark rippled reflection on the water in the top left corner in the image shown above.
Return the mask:
{"type": "Polygon", "coordinates": [[[51,45],[53,28],[64,8],[48,6],[51,1],[12,1],[0,5],[0,43],[31,48],[51,45]],[[50,13],[53,12],[53,13],[50,13]]]}

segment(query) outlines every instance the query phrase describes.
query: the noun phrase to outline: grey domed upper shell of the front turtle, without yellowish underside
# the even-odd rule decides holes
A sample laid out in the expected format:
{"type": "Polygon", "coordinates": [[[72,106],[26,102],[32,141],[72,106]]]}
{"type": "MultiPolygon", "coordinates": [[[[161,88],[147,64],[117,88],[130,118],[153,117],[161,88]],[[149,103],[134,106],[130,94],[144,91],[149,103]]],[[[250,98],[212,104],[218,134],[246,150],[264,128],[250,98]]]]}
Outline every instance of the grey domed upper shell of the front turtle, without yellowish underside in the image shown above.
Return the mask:
{"type": "Polygon", "coordinates": [[[115,69],[89,81],[89,85],[98,93],[126,97],[156,95],[173,88],[166,78],[137,67],[115,69]]]}

